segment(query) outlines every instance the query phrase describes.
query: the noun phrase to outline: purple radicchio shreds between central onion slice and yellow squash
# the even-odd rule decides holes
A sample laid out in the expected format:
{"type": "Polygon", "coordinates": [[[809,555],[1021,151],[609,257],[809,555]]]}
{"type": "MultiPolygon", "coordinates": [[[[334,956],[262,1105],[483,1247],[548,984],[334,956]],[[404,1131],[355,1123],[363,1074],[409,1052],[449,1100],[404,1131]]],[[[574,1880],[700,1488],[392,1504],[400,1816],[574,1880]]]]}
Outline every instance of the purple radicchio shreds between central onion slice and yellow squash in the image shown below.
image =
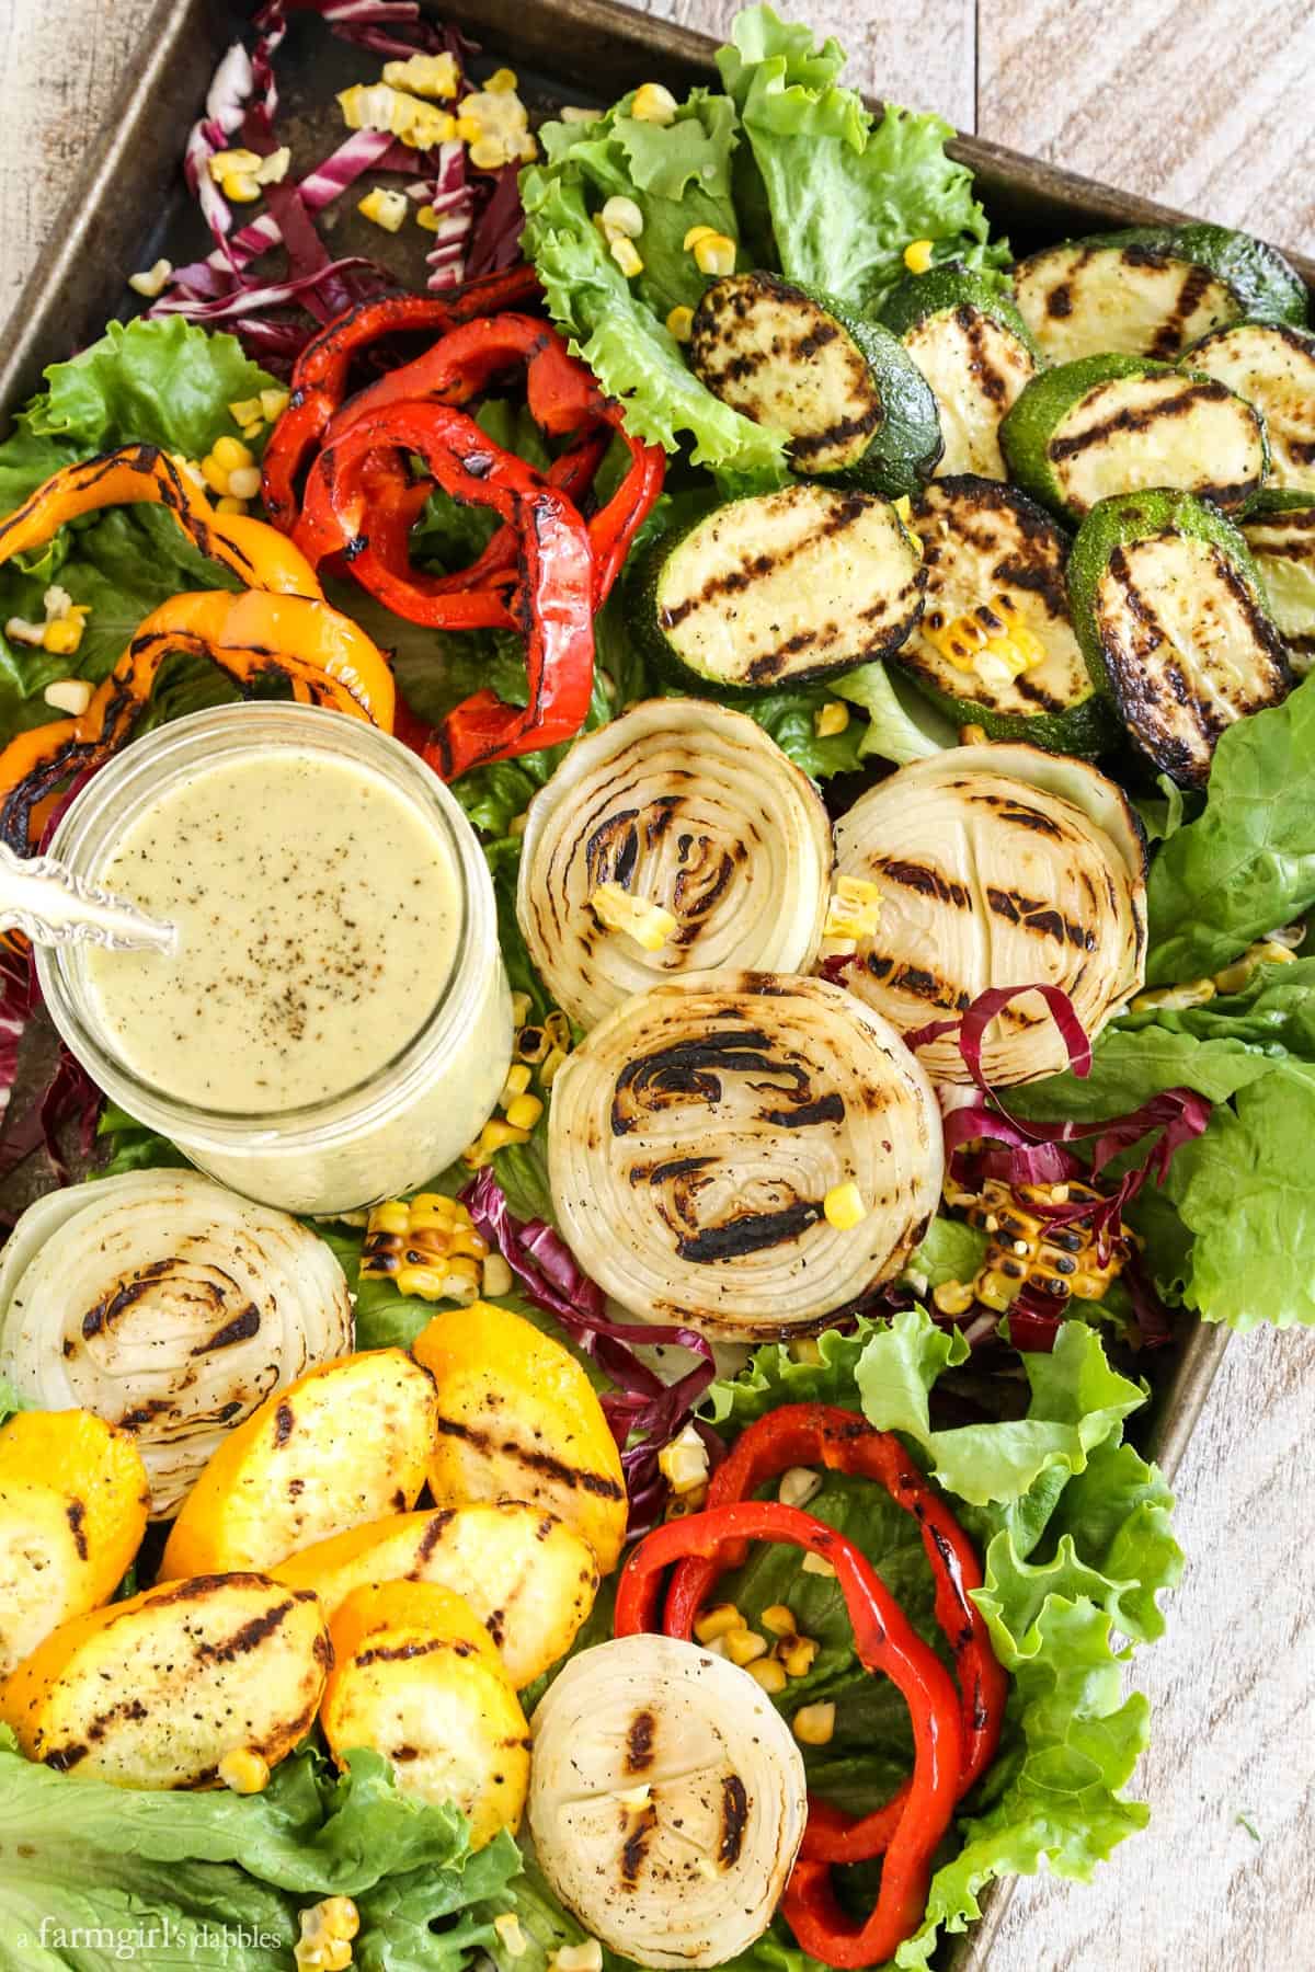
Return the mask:
{"type": "MultiPolygon", "coordinates": [[[[657,1463],[658,1451],[680,1434],[716,1376],[712,1343],[678,1325],[611,1321],[603,1290],[578,1266],[560,1232],[542,1219],[517,1219],[491,1165],[467,1185],[461,1201],[479,1232],[499,1248],[526,1298],[550,1313],[611,1376],[615,1390],[603,1394],[601,1406],[621,1447],[631,1499],[629,1532],[647,1532],[662,1516],[668,1497],[657,1463]],[[637,1347],[688,1349],[698,1361],[668,1384],[641,1363],[637,1347]]],[[[708,1445],[710,1463],[716,1463],[722,1455],[716,1432],[698,1420],[694,1428],[708,1445]]]]}

